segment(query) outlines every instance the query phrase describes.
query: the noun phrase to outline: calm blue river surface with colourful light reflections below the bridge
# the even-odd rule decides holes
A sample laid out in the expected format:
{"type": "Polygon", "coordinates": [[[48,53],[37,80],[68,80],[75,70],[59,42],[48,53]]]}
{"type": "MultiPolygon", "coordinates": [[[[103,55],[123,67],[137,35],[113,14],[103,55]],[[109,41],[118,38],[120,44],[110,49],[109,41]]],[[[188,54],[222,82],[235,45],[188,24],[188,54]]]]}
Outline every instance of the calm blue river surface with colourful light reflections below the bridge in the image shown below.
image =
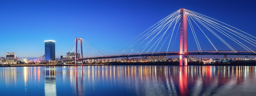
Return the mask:
{"type": "Polygon", "coordinates": [[[0,67],[0,96],[227,95],[256,95],[256,66],[0,67]]]}

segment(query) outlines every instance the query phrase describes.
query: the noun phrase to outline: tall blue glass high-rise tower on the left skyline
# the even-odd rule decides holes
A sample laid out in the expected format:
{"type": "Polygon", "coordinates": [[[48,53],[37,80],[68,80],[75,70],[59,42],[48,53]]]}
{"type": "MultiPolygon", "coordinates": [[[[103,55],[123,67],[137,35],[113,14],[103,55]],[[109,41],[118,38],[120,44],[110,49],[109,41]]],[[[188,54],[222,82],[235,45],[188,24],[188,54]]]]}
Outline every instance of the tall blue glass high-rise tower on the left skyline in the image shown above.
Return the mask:
{"type": "Polygon", "coordinates": [[[45,61],[55,60],[55,41],[45,40],[45,61]]]}

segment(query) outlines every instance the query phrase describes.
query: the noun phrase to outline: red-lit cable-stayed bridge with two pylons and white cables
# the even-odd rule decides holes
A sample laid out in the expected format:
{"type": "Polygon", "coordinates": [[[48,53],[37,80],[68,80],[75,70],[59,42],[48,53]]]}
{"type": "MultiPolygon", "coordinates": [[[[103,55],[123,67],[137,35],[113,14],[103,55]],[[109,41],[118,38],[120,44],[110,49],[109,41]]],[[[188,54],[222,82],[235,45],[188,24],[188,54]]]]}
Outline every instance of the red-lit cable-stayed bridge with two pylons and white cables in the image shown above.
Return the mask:
{"type": "Polygon", "coordinates": [[[82,38],[76,38],[74,43],[68,58],[60,61],[73,60],[75,66],[77,61],[81,61],[83,66],[83,61],[90,59],[162,55],[178,55],[180,66],[187,66],[188,55],[256,55],[255,36],[183,8],[139,34],[115,55],[82,38]],[[178,34],[180,38],[177,38],[178,34]]]}

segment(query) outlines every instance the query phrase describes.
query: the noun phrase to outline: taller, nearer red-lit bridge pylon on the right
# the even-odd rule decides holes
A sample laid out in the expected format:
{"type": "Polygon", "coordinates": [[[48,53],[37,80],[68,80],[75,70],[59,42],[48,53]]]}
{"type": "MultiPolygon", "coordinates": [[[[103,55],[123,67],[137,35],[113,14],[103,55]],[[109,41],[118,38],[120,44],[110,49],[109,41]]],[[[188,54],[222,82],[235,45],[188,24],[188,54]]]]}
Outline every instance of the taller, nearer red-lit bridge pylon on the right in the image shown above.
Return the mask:
{"type": "Polygon", "coordinates": [[[187,15],[185,9],[180,9],[180,66],[188,65],[187,58],[187,15]],[[183,63],[184,59],[184,63],[183,63]]]}

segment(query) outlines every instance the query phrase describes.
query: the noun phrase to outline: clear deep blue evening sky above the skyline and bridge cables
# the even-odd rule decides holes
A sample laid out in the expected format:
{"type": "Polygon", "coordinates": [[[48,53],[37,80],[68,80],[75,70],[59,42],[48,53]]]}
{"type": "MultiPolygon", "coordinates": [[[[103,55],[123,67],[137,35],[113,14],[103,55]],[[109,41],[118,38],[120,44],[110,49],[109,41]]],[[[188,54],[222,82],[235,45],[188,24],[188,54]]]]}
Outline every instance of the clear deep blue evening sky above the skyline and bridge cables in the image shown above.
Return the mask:
{"type": "Polygon", "coordinates": [[[55,40],[60,58],[76,37],[113,54],[182,7],[256,36],[255,5],[254,0],[1,0],[0,57],[6,52],[39,57],[44,40],[55,40]]]}

